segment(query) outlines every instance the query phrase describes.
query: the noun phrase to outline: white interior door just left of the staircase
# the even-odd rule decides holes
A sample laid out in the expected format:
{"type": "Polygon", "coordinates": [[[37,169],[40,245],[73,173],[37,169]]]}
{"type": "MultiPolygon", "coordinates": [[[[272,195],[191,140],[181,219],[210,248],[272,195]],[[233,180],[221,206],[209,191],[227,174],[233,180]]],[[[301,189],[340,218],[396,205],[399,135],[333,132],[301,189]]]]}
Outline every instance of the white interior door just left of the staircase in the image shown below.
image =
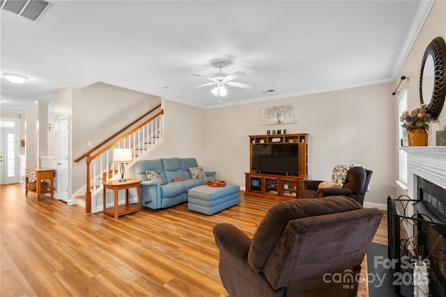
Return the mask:
{"type": "Polygon", "coordinates": [[[70,203],[68,198],[68,118],[58,120],[59,159],[57,170],[57,195],[60,200],[70,203]]]}

